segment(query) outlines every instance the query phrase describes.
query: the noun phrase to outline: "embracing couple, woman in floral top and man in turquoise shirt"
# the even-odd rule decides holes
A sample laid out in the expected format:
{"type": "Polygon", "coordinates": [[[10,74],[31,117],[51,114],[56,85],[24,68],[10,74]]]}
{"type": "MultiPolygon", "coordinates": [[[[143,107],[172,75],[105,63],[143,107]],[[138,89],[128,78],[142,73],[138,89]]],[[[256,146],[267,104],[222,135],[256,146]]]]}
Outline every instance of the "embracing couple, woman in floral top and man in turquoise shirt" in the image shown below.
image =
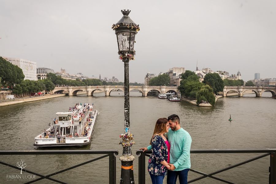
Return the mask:
{"type": "Polygon", "coordinates": [[[167,175],[167,184],[175,184],[177,177],[180,184],[186,184],[188,171],[191,167],[190,134],[180,125],[180,119],[173,114],[156,121],[150,146],[140,148],[147,151],[152,149],[148,160],[148,172],[153,184],[163,184],[167,175]]]}

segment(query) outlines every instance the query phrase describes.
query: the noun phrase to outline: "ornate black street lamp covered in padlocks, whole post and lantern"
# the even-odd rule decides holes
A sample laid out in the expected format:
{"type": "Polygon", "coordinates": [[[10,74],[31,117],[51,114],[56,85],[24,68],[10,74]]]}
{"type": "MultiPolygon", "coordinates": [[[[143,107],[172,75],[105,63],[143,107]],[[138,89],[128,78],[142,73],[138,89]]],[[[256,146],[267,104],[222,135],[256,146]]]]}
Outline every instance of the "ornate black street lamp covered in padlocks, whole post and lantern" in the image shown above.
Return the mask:
{"type": "Polygon", "coordinates": [[[120,184],[134,184],[133,178],[133,160],[134,156],[131,153],[131,146],[134,144],[133,135],[130,133],[129,122],[129,76],[128,76],[128,62],[134,60],[135,50],[135,35],[140,30],[139,25],[136,25],[128,14],[130,10],[121,10],[123,17],[112,25],[112,29],[115,30],[118,42],[118,54],[120,59],[123,60],[125,65],[125,132],[121,134],[122,138],[120,144],[123,146],[123,154],[120,157],[121,166],[121,180],[120,184]]]}

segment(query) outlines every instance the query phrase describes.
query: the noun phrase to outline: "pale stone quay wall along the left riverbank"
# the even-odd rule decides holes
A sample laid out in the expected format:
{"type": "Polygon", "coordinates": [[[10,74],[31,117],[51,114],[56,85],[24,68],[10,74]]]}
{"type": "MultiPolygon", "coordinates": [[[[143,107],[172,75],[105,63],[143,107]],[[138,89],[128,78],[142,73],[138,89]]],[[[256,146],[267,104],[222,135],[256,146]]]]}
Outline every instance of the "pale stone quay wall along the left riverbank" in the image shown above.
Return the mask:
{"type": "Polygon", "coordinates": [[[6,102],[0,102],[0,107],[2,106],[7,106],[7,105],[14,105],[14,104],[19,104],[19,103],[25,103],[25,102],[34,102],[38,100],[45,100],[49,98],[56,98],[56,97],[62,97],[66,96],[67,94],[52,94],[52,95],[45,95],[45,96],[39,96],[39,97],[31,97],[31,98],[24,98],[24,99],[15,99],[12,101],[6,101],[6,102]]]}

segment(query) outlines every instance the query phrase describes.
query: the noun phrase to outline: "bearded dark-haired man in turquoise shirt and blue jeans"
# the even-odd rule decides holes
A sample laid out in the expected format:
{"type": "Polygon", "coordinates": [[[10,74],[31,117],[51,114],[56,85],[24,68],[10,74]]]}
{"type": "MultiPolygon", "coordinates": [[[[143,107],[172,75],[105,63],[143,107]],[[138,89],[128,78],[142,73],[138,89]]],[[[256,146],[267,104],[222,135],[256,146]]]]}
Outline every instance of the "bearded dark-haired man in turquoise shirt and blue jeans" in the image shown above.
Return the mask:
{"type": "MultiPolygon", "coordinates": [[[[180,184],[187,184],[188,171],[191,168],[190,149],[192,138],[190,134],[180,126],[180,119],[172,114],[168,117],[170,129],[167,133],[168,141],[171,144],[170,163],[167,173],[167,184],[175,184],[178,177],[180,184]]],[[[151,149],[140,148],[143,151],[151,149]]]]}

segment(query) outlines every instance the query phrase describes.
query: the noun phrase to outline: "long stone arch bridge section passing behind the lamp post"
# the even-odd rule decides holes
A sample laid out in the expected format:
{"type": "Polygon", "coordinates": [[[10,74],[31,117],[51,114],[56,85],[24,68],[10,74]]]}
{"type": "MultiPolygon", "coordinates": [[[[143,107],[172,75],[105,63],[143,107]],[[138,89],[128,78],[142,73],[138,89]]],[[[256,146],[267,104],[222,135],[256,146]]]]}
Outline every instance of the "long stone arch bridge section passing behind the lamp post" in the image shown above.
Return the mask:
{"type": "MultiPolygon", "coordinates": [[[[109,96],[112,90],[124,91],[124,86],[61,86],[55,87],[53,93],[67,93],[69,96],[77,95],[78,91],[86,92],[87,96],[93,96],[94,91],[102,90],[105,92],[105,96],[109,96]]],[[[147,96],[151,90],[157,90],[159,93],[167,93],[168,91],[174,91],[178,94],[177,86],[129,86],[129,91],[139,90],[143,96],[147,96]]]]}

